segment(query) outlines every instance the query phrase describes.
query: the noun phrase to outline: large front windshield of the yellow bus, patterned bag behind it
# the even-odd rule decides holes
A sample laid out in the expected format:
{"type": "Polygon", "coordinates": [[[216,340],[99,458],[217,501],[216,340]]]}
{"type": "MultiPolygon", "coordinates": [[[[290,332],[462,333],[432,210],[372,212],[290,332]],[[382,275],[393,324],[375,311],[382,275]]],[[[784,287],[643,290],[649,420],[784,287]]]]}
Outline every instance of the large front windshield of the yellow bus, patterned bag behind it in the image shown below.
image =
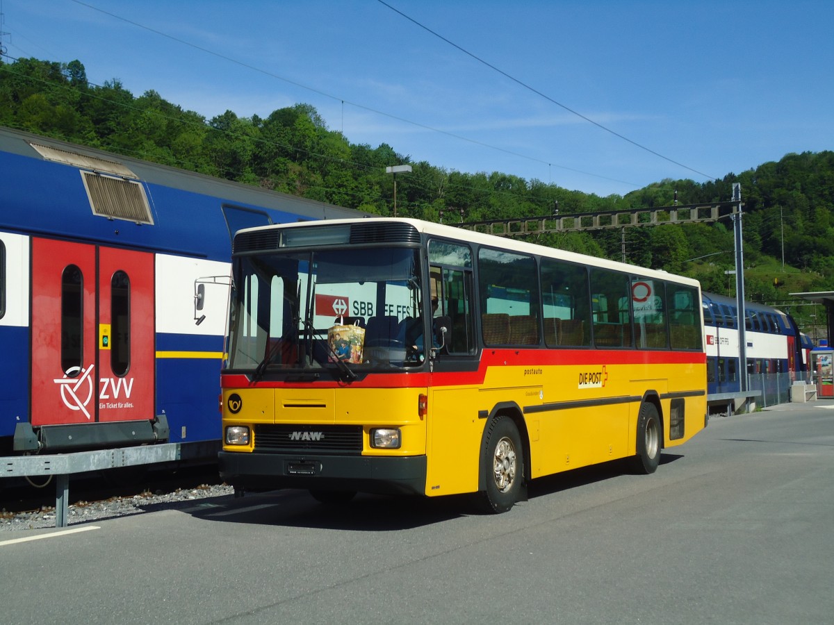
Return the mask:
{"type": "Polygon", "coordinates": [[[425,362],[420,254],[339,248],[237,258],[227,368],[414,368],[425,362]]]}

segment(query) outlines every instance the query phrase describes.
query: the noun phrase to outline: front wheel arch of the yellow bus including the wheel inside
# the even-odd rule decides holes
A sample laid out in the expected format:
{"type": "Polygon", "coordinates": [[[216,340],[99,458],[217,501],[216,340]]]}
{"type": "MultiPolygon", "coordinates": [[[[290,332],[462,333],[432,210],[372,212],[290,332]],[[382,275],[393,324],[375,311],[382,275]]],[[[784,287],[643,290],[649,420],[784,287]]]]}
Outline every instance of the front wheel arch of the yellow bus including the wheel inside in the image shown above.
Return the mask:
{"type": "Polygon", "coordinates": [[[507,512],[526,499],[530,475],[530,443],[520,409],[496,406],[481,437],[478,477],[480,507],[485,512],[507,512]]]}

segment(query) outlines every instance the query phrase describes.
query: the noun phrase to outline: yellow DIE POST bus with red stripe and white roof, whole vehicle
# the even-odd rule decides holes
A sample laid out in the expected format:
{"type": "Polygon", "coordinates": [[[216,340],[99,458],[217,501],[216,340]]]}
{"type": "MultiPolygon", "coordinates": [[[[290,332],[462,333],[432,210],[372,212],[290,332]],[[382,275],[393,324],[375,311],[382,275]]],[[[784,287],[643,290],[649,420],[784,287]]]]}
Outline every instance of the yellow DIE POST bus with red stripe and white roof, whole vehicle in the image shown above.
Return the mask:
{"type": "Polygon", "coordinates": [[[706,424],[689,278],[413,219],[234,238],[220,474],[238,490],[480,493],[706,424]]]}

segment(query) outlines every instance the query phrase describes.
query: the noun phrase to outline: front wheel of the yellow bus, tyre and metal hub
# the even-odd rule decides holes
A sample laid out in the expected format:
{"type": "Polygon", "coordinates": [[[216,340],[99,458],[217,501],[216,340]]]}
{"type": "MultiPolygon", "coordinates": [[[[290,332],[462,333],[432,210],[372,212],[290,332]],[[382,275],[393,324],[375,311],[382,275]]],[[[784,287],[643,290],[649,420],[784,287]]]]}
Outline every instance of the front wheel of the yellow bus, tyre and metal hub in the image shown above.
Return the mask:
{"type": "Polygon", "coordinates": [[[524,482],[524,452],[512,419],[499,417],[490,423],[483,466],[482,507],[486,512],[507,512],[519,500],[524,482]]]}

